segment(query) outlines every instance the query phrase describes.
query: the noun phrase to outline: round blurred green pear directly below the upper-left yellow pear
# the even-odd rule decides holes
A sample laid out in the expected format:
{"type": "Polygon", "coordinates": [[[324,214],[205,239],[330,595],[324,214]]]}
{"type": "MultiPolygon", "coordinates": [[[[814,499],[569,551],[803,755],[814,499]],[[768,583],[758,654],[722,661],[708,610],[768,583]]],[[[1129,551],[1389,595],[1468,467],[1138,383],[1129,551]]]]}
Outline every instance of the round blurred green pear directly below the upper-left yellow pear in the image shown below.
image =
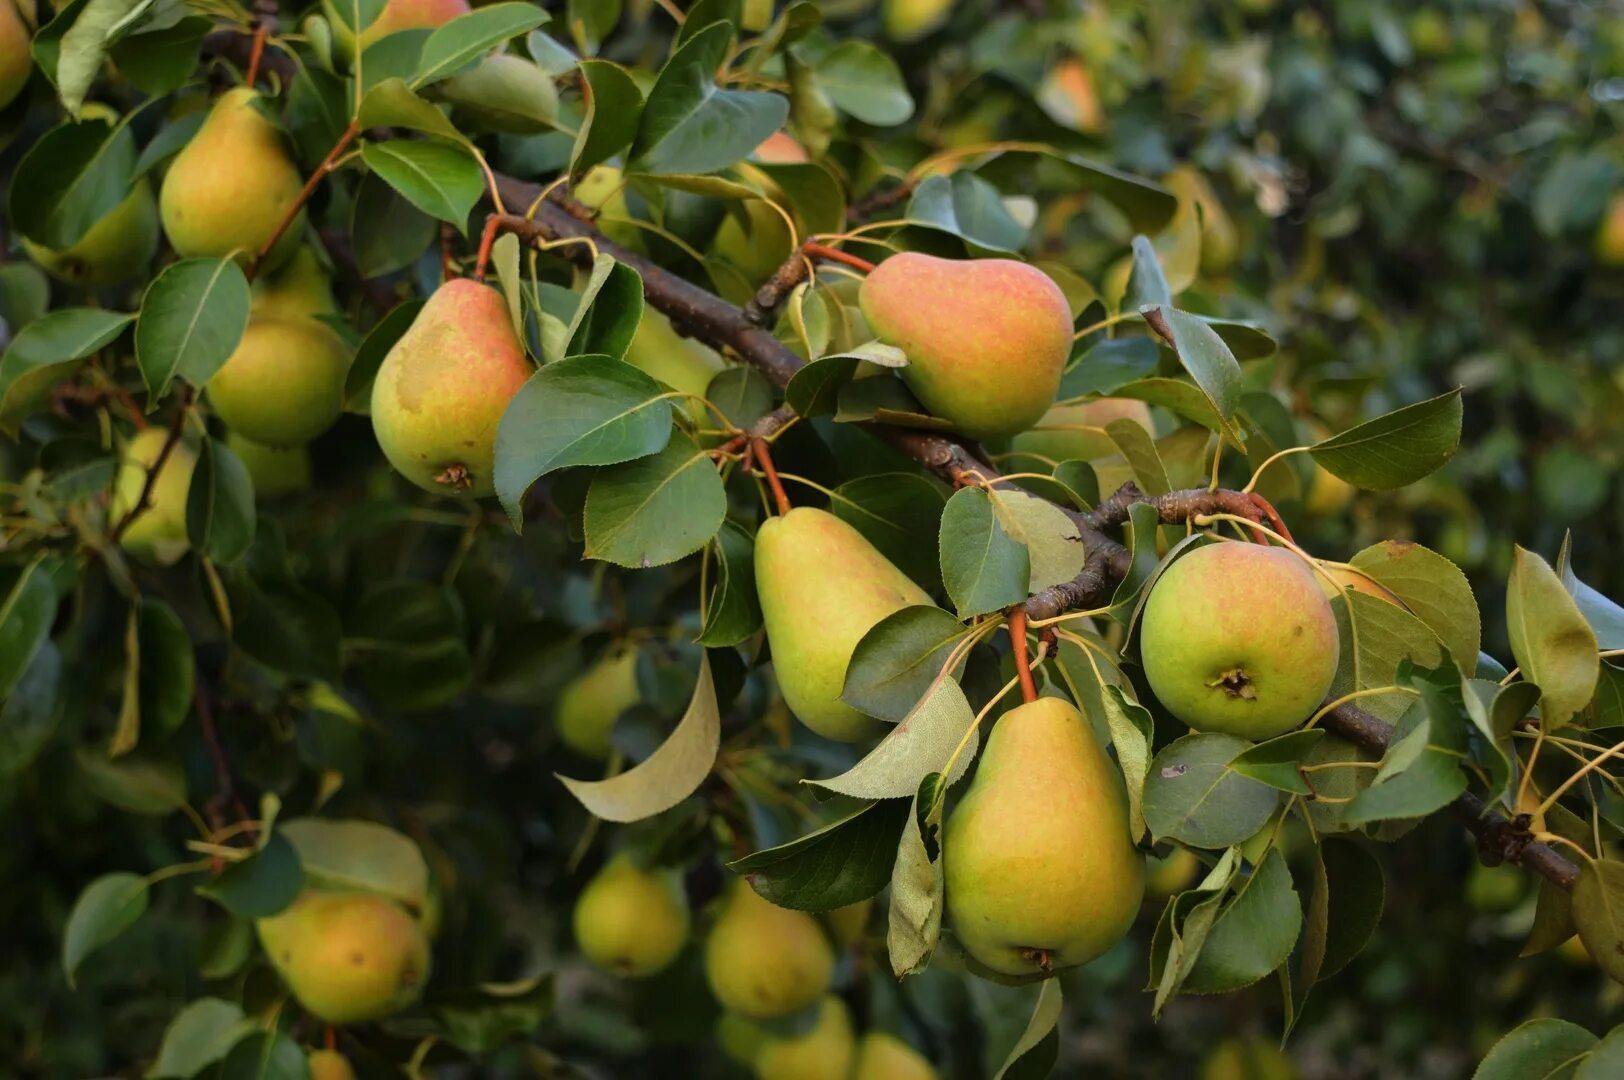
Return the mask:
{"type": "Polygon", "coordinates": [[[310,442],[344,411],[349,349],[313,318],[255,315],[208,383],[219,419],[270,447],[310,442]]]}

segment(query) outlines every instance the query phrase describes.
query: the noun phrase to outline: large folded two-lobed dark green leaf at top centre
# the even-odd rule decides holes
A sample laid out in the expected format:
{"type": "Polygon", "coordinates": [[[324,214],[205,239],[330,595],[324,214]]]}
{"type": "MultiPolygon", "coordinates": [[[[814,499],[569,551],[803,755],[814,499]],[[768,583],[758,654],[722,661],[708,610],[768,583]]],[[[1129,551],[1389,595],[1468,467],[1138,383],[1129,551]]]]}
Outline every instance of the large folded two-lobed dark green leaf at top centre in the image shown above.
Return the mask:
{"type": "Polygon", "coordinates": [[[638,120],[630,167],[638,172],[706,174],[744,159],[789,119],[780,94],[716,86],[732,26],[715,23],[672,54],[638,120]]]}

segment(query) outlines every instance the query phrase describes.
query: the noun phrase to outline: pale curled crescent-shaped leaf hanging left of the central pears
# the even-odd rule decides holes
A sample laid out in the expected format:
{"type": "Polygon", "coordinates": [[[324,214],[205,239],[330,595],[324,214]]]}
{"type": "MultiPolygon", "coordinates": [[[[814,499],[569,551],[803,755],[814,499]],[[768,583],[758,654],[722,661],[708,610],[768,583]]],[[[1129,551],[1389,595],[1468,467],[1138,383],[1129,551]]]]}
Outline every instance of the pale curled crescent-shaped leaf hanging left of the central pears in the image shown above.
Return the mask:
{"type": "Polygon", "coordinates": [[[627,771],[609,780],[559,776],[581,806],[606,822],[640,822],[663,814],[698,791],[721,747],[721,710],[711,680],[710,656],[700,654],[700,676],[689,708],[671,736],[627,771]]]}

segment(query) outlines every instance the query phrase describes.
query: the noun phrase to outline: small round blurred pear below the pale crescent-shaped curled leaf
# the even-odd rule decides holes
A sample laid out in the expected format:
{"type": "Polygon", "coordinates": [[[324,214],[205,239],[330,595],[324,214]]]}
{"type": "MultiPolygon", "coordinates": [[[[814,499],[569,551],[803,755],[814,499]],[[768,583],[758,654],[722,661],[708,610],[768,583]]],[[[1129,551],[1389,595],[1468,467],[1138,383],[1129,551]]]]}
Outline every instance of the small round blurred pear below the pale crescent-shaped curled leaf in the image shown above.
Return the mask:
{"type": "Polygon", "coordinates": [[[664,971],[689,940],[689,900],[676,870],[617,854],[575,901],[575,942],[594,965],[640,979],[664,971]]]}

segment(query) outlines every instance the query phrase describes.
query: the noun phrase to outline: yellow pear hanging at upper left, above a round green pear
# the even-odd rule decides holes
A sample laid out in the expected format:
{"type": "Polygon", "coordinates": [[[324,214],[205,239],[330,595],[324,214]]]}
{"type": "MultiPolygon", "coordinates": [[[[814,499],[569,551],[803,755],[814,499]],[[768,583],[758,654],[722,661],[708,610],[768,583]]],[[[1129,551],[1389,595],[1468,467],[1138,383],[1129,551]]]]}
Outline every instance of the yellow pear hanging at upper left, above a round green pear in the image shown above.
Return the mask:
{"type": "MultiPolygon", "coordinates": [[[[304,177],[283,148],[260,96],[229,89],[164,175],[158,210],[180,255],[232,255],[247,263],[299,201],[304,177]]],[[[266,257],[276,266],[299,245],[304,210],[266,257]]]]}

